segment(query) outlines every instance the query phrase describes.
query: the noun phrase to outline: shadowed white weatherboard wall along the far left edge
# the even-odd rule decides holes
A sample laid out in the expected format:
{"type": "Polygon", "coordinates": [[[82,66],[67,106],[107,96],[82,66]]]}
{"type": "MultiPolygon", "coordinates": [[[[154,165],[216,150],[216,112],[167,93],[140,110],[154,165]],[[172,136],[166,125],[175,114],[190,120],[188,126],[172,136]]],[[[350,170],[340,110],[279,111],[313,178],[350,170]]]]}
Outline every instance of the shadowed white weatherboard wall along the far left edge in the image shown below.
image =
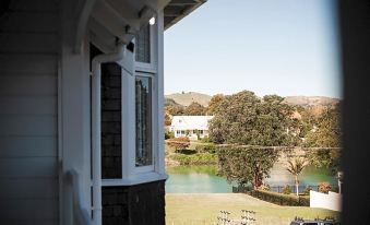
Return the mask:
{"type": "Polygon", "coordinates": [[[0,224],[58,224],[58,4],[0,19],[0,224]]]}

